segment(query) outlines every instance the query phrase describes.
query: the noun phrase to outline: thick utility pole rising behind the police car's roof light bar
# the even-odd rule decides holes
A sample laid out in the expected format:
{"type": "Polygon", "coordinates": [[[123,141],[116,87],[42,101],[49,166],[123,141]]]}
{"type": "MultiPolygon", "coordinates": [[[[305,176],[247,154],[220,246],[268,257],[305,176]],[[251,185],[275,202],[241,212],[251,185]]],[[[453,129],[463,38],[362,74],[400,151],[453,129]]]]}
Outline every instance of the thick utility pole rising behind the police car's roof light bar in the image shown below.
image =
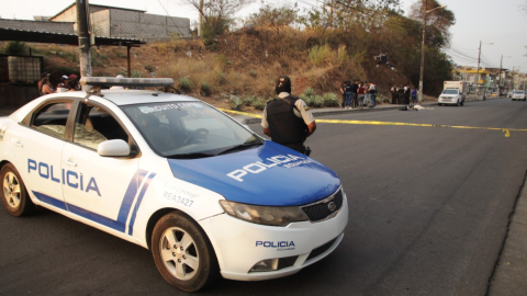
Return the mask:
{"type": "Polygon", "coordinates": [[[91,76],[90,33],[89,33],[89,8],[88,0],[77,2],[77,35],[79,36],[79,62],[80,76],[91,76]]]}

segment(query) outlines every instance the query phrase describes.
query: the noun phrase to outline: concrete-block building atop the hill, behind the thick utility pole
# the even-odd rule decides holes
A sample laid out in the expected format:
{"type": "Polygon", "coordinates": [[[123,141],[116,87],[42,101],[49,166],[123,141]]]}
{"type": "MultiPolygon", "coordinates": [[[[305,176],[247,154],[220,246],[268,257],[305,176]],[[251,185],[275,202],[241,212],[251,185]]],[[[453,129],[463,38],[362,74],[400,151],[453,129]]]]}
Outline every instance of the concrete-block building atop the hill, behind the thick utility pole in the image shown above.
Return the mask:
{"type": "MultiPolygon", "coordinates": [[[[89,4],[91,27],[97,36],[167,39],[190,37],[190,19],[146,13],[144,10],[89,4]]],[[[51,22],[77,22],[77,4],[49,18],[51,22]]],[[[76,24],[74,24],[77,31],[76,24]]]]}

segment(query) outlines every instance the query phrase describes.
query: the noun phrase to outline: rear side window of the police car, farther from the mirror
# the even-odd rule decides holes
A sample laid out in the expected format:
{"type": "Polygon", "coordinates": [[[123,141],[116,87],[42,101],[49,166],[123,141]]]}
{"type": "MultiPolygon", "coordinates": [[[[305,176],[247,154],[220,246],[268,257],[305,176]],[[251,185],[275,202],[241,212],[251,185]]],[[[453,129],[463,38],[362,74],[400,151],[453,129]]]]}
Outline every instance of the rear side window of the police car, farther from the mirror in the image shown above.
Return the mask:
{"type": "Polygon", "coordinates": [[[71,102],[58,102],[45,105],[35,113],[31,126],[58,138],[65,138],[71,102]]]}

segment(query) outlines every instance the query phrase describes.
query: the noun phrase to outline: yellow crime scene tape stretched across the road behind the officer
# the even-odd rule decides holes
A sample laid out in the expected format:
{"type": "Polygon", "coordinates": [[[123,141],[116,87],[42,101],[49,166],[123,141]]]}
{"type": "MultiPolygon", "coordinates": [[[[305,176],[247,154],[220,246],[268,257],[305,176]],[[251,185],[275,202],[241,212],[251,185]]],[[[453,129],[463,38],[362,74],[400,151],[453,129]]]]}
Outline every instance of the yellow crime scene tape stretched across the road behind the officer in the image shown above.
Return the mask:
{"type": "MultiPolygon", "coordinates": [[[[260,114],[253,114],[239,112],[234,110],[220,109],[223,112],[228,112],[238,115],[251,116],[261,118],[260,114]]],[[[500,127],[476,127],[476,126],[458,126],[458,125],[442,125],[442,124],[412,124],[412,123],[391,123],[391,122],[370,122],[370,121],[337,121],[337,119],[316,119],[317,123],[333,123],[333,124],[361,124],[361,125],[395,125],[395,126],[426,126],[426,127],[448,127],[448,128],[463,128],[463,129],[486,129],[486,130],[502,130],[505,137],[511,137],[511,132],[527,132],[527,129],[518,128],[500,128],[500,127]]]]}

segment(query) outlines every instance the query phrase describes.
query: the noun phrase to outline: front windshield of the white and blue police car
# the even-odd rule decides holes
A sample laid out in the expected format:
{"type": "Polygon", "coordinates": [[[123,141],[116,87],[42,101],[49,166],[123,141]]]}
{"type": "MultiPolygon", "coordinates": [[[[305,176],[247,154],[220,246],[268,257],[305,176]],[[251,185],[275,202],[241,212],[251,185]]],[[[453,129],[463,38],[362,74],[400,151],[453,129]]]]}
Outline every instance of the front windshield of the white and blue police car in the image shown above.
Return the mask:
{"type": "Polygon", "coordinates": [[[233,147],[261,144],[256,135],[202,102],[147,103],[122,109],[152,149],[162,157],[213,157],[233,147]]]}

